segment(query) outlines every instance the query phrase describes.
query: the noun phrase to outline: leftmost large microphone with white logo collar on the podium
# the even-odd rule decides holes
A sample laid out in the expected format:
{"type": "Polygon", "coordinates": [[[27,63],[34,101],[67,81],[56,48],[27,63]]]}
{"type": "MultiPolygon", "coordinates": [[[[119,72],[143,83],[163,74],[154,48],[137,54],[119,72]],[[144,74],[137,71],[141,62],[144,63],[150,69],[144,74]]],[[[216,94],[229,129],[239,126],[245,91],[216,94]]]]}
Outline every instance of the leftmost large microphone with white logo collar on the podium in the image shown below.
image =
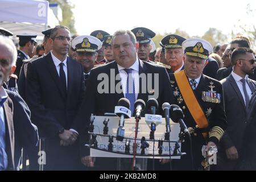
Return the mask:
{"type": "Polygon", "coordinates": [[[125,124],[125,118],[131,117],[131,111],[128,108],[130,108],[130,101],[127,100],[127,98],[120,98],[118,106],[115,106],[114,113],[120,117],[119,127],[117,129],[117,140],[121,142],[125,137],[125,128],[123,127],[125,124]]]}

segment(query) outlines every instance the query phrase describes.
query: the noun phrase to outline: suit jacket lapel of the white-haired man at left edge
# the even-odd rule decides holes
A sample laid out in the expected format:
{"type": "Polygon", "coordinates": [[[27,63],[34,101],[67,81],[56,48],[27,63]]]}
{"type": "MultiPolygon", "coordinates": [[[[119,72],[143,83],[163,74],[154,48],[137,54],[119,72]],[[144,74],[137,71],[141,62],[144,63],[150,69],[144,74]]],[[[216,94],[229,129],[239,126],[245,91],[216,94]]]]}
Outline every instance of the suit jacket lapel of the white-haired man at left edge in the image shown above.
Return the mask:
{"type": "Polygon", "coordinates": [[[11,155],[9,156],[9,158],[11,157],[11,161],[8,160],[9,163],[9,167],[10,164],[14,167],[14,126],[13,126],[13,104],[11,99],[8,97],[7,100],[5,102],[3,102],[3,110],[5,111],[5,121],[6,121],[6,125],[7,125],[7,132],[9,135],[7,136],[7,145],[9,145],[9,147],[7,147],[7,154],[11,155]]]}

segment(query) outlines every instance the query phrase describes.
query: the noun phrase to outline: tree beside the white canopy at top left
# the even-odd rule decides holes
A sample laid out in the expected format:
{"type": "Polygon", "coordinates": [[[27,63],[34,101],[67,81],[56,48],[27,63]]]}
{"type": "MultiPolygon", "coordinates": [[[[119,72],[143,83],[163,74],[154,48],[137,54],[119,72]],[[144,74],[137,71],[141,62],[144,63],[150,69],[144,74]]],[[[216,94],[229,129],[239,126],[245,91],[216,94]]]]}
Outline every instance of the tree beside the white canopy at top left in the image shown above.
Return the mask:
{"type": "Polygon", "coordinates": [[[49,3],[58,3],[62,10],[62,21],[61,25],[67,26],[72,34],[76,34],[75,28],[75,17],[72,9],[75,5],[72,5],[69,0],[48,0],[49,3]]]}

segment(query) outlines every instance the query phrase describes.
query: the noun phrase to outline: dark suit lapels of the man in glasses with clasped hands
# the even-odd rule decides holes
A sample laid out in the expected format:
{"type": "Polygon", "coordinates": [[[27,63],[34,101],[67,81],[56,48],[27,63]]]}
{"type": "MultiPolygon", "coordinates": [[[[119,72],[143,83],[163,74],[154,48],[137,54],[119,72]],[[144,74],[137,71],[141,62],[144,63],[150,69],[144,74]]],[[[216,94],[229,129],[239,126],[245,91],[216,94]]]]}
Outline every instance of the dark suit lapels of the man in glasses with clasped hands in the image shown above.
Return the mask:
{"type": "Polygon", "coordinates": [[[64,90],[61,89],[61,86],[60,86],[60,77],[57,73],[57,69],[55,67],[55,64],[53,63],[53,60],[52,60],[52,56],[51,56],[51,53],[48,53],[48,55],[46,55],[46,61],[47,61],[47,67],[48,67],[48,71],[50,73],[50,75],[52,76],[52,79],[55,81],[56,85],[57,85],[57,88],[59,89],[60,91],[60,94],[61,96],[64,98],[64,100],[66,99],[65,98],[65,93],[64,93],[64,90]]]}

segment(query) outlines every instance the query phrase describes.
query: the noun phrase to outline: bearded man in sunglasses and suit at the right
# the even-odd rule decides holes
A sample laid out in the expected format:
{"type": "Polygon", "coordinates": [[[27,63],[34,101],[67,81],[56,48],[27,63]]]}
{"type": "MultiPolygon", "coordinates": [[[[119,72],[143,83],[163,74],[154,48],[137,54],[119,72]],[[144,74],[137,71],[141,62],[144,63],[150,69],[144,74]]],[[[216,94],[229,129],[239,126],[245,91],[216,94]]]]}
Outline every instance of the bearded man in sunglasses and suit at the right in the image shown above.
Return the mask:
{"type": "Polygon", "coordinates": [[[234,67],[232,73],[221,80],[228,127],[220,140],[218,170],[237,169],[249,101],[256,89],[256,82],[248,78],[256,67],[253,51],[250,48],[234,49],[231,61],[234,67]]]}

